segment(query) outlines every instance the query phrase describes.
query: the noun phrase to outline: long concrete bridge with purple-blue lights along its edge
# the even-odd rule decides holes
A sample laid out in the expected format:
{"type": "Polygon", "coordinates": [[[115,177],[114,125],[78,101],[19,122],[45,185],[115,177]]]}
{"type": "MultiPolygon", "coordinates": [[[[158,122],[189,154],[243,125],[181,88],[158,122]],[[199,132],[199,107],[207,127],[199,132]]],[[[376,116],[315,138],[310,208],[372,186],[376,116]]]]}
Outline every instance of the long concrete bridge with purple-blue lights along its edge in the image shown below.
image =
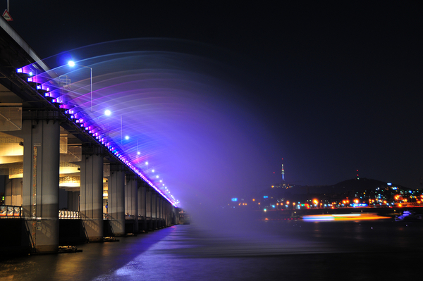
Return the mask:
{"type": "Polygon", "coordinates": [[[92,81],[85,95],[89,106],[68,102],[75,94],[70,78],[43,63],[4,18],[0,25],[2,245],[5,235],[18,233],[20,246],[28,242],[33,252],[57,252],[63,227],[102,242],[178,223],[173,196],[94,122],[92,81]],[[64,208],[59,199],[66,199],[64,208]]]}

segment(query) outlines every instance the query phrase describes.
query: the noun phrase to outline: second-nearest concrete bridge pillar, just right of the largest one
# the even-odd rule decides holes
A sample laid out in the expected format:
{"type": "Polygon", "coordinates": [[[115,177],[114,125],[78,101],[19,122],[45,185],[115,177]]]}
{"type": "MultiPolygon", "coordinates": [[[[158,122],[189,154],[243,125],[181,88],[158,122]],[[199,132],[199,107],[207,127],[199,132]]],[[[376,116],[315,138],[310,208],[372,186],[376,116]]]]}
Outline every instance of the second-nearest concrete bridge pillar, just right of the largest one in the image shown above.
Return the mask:
{"type": "Polygon", "coordinates": [[[87,238],[103,240],[103,156],[82,155],[80,214],[87,238]]]}

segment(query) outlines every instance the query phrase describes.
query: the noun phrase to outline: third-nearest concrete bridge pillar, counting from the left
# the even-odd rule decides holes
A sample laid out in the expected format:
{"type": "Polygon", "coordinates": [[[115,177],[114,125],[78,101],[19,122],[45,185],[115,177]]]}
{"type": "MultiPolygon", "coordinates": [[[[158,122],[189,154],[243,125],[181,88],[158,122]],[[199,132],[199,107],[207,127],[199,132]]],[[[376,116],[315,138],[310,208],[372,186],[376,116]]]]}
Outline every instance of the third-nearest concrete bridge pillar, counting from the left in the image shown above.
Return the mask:
{"type": "Polygon", "coordinates": [[[109,220],[114,235],[125,235],[125,173],[113,170],[108,177],[109,220]]]}

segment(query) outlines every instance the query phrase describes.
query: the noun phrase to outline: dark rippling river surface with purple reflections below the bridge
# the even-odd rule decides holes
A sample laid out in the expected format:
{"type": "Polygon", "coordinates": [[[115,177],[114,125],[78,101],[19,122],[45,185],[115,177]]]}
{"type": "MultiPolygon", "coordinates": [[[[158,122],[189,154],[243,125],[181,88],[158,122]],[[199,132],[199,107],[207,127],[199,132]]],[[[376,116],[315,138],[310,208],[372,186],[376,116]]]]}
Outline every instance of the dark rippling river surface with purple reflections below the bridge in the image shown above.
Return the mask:
{"type": "Polygon", "coordinates": [[[0,280],[394,280],[423,275],[423,223],[176,225],[82,253],[0,261],[0,280]]]}

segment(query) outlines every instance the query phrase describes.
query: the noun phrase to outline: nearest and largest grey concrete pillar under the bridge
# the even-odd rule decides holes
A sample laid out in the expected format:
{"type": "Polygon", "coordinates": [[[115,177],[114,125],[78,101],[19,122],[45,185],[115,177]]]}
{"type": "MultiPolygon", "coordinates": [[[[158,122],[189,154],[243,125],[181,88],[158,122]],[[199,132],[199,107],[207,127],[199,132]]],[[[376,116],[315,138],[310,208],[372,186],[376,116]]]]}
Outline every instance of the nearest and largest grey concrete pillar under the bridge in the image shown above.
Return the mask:
{"type": "Polygon", "coordinates": [[[59,250],[59,122],[23,120],[23,213],[37,252],[59,250]]]}

